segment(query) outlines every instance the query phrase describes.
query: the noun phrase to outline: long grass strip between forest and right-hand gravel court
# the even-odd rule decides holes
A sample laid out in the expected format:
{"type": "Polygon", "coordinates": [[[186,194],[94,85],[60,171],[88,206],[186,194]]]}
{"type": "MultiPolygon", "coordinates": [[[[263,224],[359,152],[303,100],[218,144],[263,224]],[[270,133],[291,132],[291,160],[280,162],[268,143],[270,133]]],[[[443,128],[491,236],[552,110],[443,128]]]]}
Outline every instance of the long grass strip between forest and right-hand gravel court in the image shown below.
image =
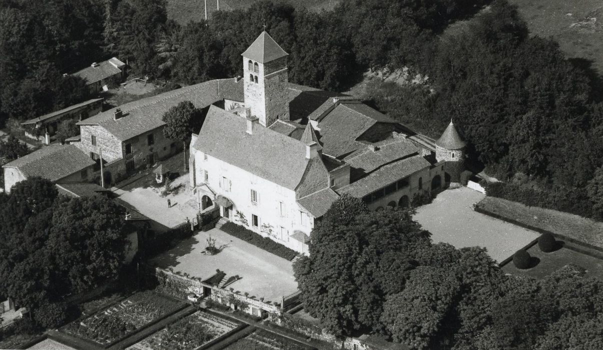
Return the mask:
{"type": "Polygon", "coordinates": [[[502,198],[486,197],[478,207],[501,217],[509,217],[517,222],[545,230],[569,239],[578,240],[603,248],[603,223],[562,211],[528,207],[502,198]]]}

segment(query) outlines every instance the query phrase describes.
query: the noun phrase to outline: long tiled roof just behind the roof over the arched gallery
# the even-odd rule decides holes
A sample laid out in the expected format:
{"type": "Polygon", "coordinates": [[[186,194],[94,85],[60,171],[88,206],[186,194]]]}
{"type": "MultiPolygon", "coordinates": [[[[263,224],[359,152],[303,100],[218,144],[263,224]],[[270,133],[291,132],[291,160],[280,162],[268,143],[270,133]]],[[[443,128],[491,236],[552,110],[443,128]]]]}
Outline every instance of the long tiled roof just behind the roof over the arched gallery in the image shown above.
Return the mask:
{"type": "Polygon", "coordinates": [[[377,167],[418,152],[417,147],[403,137],[377,142],[372,146],[375,151],[366,146],[344,158],[344,161],[362,172],[370,173],[377,167]]]}

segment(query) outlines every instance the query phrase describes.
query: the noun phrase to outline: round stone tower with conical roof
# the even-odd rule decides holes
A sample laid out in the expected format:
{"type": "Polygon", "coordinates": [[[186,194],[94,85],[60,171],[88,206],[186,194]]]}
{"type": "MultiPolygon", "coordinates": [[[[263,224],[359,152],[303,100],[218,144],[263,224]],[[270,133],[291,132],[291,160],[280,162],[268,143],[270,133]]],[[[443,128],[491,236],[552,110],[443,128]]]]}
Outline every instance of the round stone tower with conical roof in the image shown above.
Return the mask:
{"type": "Polygon", "coordinates": [[[450,120],[450,124],[444,130],[440,139],[435,142],[435,159],[449,163],[446,166],[446,170],[453,182],[458,181],[461,172],[464,170],[466,147],[467,142],[459,134],[458,130],[456,130],[452,120],[450,120]]]}

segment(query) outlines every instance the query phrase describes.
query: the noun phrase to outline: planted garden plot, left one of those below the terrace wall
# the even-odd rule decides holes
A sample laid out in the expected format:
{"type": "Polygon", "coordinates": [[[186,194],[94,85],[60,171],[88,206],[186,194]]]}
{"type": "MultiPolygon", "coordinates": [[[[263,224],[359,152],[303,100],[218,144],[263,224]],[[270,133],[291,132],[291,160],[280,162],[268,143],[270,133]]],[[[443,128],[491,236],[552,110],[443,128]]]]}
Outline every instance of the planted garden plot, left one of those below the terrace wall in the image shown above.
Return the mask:
{"type": "Polygon", "coordinates": [[[143,328],[155,319],[177,310],[184,304],[147,290],[113,304],[81,322],[62,328],[64,333],[106,345],[125,334],[143,328]]]}

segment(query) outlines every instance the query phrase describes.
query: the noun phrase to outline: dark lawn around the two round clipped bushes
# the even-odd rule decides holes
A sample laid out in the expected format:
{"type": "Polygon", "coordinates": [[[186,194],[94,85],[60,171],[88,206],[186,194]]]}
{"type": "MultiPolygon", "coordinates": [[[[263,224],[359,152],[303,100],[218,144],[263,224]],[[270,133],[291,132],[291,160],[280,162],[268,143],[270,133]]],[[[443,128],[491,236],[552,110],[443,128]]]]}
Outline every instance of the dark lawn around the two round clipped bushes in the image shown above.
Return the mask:
{"type": "Polygon", "coordinates": [[[567,248],[561,248],[554,252],[545,253],[540,251],[538,245],[528,249],[532,257],[537,258],[538,264],[530,269],[520,270],[515,267],[513,262],[506,264],[502,269],[513,275],[529,276],[534,278],[543,278],[567,264],[576,264],[586,269],[587,277],[603,276],[603,260],[590,255],[582,254],[567,248]]]}

